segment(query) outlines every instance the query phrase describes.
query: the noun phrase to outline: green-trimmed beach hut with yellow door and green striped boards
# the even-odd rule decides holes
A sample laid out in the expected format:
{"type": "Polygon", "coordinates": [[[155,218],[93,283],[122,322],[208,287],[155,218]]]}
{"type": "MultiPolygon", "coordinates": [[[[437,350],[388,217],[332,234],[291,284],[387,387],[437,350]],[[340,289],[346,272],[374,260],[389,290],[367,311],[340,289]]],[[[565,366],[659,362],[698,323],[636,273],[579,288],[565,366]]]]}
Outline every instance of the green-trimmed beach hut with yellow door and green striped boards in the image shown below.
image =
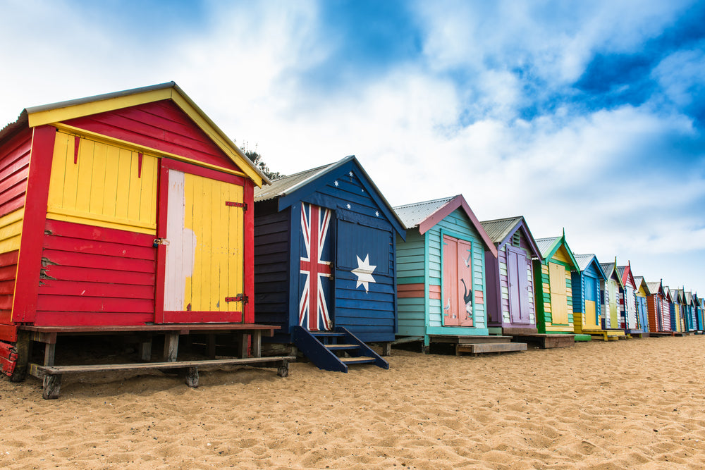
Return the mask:
{"type": "Polygon", "coordinates": [[[571,271],[580,269],[565,241],[560,237],[536,240],[541,259],[534,264],[534,298],[537,309],[539,333],[563,337],[565,346],[575,341],[575,326],[572,311],[571,271]]]}

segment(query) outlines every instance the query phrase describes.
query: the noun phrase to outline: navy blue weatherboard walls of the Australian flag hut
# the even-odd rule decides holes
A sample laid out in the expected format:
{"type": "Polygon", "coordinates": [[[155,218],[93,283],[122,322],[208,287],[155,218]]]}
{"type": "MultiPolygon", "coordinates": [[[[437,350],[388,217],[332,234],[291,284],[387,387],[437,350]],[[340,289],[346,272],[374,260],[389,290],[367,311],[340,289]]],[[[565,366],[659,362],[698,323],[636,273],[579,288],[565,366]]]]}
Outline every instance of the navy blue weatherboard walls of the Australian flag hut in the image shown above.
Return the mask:
{"type": "MultiPolygon", "coordinates": [[[[271,307],[266,303],[260,306],[255,304],[257,321],[267,318],[271,320],[269,323],[281,324],[280,336],[284,342],[292,341],[293,328],[299,324],[299,296],[305,282],[305,276],[300,275],[300,213],[303,203],[321,206],[332,212],[329,230],[333,252],[333,286],[326,296],[333,326],[347,328],[365,342],[391,341],[395,338],[398,324],[394,235],[402,230],[401,224],[384,198],[376,192],[374,184],[367,180],[357,161],[345,160],[292,192],[271,201],[257,202],[257,210],[260,206],[276,206],[280,214],[286,214],[286,234],[277,230],[278,240],[286,239],[288,243],[286,253],[280,256],[288,260],[286,278],[278,281],[283,285],[279,293],[281,302],[271,307]],[[369,266],[374,266],[372,280],[368,280],[367,285],[359,283],[358,275],[353,272],[360,268],[365,259],[369,266]],[[281,292],[286,294],[282,295],[281,292]],[[276,312],[266,311],[268,308],[276,309],[276,312]]],[[[404,237],[405,233],[401,236],[404,237]]],[[[265,248],[263,245],[263,253],[255,260],[260,276],[274,269],[271,266],[257,267],[257,260],[263,259],[265,248]]],[[[282,270],[276,271],[278,276],[283,276],[282,270]]],[[[259,282],[256,276],[255,283],[259,282]]]]}

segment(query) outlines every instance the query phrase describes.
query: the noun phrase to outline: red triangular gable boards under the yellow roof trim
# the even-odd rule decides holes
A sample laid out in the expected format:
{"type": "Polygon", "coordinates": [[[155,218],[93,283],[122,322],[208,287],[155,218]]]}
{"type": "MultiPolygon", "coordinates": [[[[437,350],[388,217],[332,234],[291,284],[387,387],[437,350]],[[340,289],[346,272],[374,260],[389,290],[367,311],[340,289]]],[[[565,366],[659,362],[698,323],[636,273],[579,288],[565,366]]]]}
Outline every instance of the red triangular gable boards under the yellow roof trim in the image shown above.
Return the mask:
{"type": "Polygon", "coordinates": [[[66,124],[221,168],[239,170],[210,137],[168,99],[67,120],[66,124]]]}

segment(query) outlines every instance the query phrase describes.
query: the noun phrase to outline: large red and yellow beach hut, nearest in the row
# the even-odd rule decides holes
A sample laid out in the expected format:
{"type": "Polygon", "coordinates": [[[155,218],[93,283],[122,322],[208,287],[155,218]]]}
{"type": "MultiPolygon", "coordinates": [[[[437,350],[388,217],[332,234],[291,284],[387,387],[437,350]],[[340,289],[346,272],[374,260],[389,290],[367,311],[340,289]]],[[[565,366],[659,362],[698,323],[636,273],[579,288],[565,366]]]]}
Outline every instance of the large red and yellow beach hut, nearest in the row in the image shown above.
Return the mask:
{"type": "Polygon", "coordinates": [[[0,131],[3,372],[26,370],[30,334],[50,366],[57,335],[168,330],[171,361],[179,333],[255,332],[263,183],[174,82],[25,109],[0,131]]]}

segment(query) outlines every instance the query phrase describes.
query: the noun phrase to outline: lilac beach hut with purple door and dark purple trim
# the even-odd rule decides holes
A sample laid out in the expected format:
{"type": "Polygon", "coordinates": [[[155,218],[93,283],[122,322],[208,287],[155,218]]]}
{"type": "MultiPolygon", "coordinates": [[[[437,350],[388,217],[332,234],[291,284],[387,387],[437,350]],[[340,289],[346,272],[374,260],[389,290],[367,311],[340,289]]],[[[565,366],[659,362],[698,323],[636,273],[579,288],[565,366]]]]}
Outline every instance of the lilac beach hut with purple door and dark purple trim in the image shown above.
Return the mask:
{"type": "Polygon", "coordinates": [[[529,226],[522,216],[481,223],[497,249],[497,256],[489,250],[485,252],[490,333],[538,333],[532,259],[541,259],[541,252],[529,226]]]}

